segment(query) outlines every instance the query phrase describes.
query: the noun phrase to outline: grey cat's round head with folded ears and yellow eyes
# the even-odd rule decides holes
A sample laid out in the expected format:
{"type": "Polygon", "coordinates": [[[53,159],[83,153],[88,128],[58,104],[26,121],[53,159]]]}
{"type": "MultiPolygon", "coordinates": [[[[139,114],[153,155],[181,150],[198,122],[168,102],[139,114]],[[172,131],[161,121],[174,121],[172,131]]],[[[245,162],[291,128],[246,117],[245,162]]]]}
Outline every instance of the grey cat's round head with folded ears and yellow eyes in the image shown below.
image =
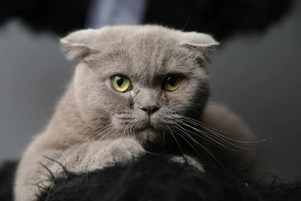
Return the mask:
{"type": "Polygon", "coordinates": [[[61,44],[68,59],[80,59],[75,96],[90,122],[105,117],[120,133],[152,138],[199,118],[207,103],[203,64],[218,45],[209,35],[117,26],[77,31],[61,44]]]}

